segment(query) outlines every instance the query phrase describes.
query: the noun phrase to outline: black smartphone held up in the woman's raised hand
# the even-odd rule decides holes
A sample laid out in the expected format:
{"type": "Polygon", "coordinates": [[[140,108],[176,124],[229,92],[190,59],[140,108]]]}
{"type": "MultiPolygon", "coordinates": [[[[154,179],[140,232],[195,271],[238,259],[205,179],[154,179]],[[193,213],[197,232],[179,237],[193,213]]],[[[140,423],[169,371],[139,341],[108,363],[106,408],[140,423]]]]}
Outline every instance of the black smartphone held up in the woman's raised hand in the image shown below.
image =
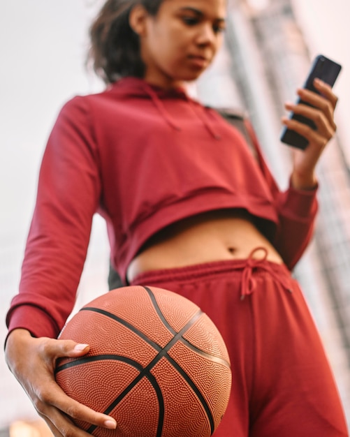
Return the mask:
{"type": "MultiPolygon", "coordinates": [[[[319,91],[317,91],[314,87],[314,79],[317,77],[333,87],[341,69],[342,66],[340,66],[340,64],[337,64],[337,62],[326,58],[323,56],[323,54],[319,54],[319,56],[317,56],[312,63],[311,70],[307,76],[307,80],[305,80],[303,88],[320,94],[319,91]]],[[[300,98],[298,103],[304,103],[305,105],[311,106],[309,103],[302,101],[300,98]]],[[[312,129],[316,130],[314,121],[304,117],[303,115],[294,114],[291,112],[290,118],[307,124],[307,126],[310,126],[312,129]]],[[[298,149],[306,149],[306,147],[309,145],[309,141],[305,137],[295,131],[291,131],[291,129],[288,129],[286,126],[282,131],[280,140],[286,145],[297,147],[298,149]]]]}

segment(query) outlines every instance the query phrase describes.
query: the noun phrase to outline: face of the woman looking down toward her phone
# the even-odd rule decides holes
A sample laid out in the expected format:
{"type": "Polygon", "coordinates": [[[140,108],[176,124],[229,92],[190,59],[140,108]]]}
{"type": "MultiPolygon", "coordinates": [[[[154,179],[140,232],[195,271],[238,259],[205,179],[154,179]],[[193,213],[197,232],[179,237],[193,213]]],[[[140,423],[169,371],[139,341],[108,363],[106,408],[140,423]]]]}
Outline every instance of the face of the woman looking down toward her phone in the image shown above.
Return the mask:
{"type": "Polygon", "coordinates": [[[164,0],[140,33],[145,80],[178,87],[210,65],[222,41],[226,0],[164,0]]]}

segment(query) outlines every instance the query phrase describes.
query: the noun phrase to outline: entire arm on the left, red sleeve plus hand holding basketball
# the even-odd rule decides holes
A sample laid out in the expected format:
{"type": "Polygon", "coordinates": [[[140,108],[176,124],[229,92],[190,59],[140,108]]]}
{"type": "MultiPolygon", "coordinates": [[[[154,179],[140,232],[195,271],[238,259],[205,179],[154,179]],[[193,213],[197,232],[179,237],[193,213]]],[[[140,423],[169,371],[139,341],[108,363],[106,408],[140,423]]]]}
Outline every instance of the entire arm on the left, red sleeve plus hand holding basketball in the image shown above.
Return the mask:
{"type": "Polygon", "coordinates": [[[85,98],[74,98],[61,110],[45,149],[20,292],[7,316],[10,371],[59,437],[89,435],[74,426],[74,418],[115,427],[111,417],[66,396],[54,379],[59,357],[89,350],[56,338],[75,303],[100,195],[99,151],[89,107],[85,98]]]}

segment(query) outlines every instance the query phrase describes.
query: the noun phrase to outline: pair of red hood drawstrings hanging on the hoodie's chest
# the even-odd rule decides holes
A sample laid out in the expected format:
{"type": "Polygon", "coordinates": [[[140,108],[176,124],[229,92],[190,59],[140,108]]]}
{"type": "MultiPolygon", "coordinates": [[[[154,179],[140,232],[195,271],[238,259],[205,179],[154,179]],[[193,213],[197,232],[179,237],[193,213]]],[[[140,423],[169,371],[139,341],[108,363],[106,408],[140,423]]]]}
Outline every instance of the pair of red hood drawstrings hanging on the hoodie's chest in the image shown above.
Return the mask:
{"type": "MultiPolygon", "coordinates": [[[[169,112],[166,110],[166,107],[164,106],[163,102],[159,98],[158,94],[156,94],[156,91],[154,91],[152,86],[147,82],[143,82],[143,90],[147,93],[148,96],[150,96],[154,106],[156,107],[157,110],[159,110],[159,113],[161,114],[163,119],[166,120],[168,125],[171,128],[175,129],[175,131],[181,131],[182,130],[181,127],[178,124],[176,124],[176,122],[170,116],[169,112]]],[[[205,113],[201,111],[200,108],[198,109],[196,108],[196,103],[194,103],[194,101],[192,101],[191,98],[189,98],[186,93],[183,92],[183,96],[186,98],[187,103],[189,103],[196,117],[198,117],[198,119],[202,121],[203,126],[205,126],[205,128],[210,133],[210,135],[212,135],[212,137],[215,140],[220,140],[221,139],[220,135],[214,131],[214,128],[212,127],[212,124],[210,123],[210,120],[205,115],[205,113]]]]}

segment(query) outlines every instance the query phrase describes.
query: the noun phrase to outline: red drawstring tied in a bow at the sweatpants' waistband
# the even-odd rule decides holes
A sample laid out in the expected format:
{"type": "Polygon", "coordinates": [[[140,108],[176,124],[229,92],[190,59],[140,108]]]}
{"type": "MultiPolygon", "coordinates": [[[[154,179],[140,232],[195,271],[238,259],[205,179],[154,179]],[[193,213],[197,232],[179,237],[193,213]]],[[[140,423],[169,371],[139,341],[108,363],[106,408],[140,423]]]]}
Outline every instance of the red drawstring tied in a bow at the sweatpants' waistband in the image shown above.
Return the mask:
{"type": "Polygon", "coordinates": [[[289,281],[287,282],[287,280],[283,276],[277,274],[270,264],[264,262],[267,257],[268,251],[267,249],[265,249],[265,247],[256,247],[249,254],[249,257],[245,262],[245,267],[242,272],[242,289],[240,295],[241,300],[245,299],[246,296],[251,295],[255,290],[256,280],[253,278],[253,271],[257,267],[265,270],[265,272],[269,272],[276,281],[282,284],[286,291],[292,292],[289,281]],[[257,251],[263,251],[263,258],[253,258],[254,253],[256,253],[257,251]]]}

